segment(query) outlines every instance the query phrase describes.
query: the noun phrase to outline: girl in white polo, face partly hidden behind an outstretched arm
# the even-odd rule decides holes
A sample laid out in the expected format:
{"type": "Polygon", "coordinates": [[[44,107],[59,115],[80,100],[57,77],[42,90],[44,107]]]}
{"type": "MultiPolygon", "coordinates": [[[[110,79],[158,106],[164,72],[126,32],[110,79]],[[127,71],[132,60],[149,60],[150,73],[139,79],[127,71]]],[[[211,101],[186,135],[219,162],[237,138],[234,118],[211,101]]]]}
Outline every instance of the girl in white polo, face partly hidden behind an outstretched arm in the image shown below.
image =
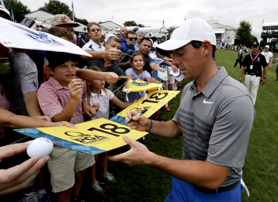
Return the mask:
{"type": "MultiPolygon", "coordinates": [[[[94,71],[101,71],[98,67],[89,67],[88,69],[94,70],[94,71]]],[[[95,103],[99,103],[99,110],[97,111],[96,115],[94,117],[91,117],[90,120],[95,120],[98,118],[106,118],[108,119],[109,116],[109,101],[113,102],[117,106],[121,107],[122,109],[125,109],[126,107],[130,106],[132,103],[130,102],[122,102],[114,94],[104,88],[105,81],[104,80],[87,80],[87,95],[86,95],[86,103],[89,106],[93,106],[95,103]]],[[[135,102],[138,102],[138,100],[135,100],[135,102]]],[[[84,108],[84,111],[88,109],[84,108]]],[[[100,156],[100,163],[101,163],[101,173],[100,177],[106,181],[108,184],[114,184],[116,182],[115,177],[107,172],[107,155],[108,152],[104,152],[99,154],[100,156]]],[[[95,155],[95,161],[97,162],[98,155],[95,155]]],[[[104,189],[99,185],[97,179],[96,179],[96,164],[91,166],[91,177],[92,177],[92,183],[91,186],[94,190],[104,193],[104,189]]]]}

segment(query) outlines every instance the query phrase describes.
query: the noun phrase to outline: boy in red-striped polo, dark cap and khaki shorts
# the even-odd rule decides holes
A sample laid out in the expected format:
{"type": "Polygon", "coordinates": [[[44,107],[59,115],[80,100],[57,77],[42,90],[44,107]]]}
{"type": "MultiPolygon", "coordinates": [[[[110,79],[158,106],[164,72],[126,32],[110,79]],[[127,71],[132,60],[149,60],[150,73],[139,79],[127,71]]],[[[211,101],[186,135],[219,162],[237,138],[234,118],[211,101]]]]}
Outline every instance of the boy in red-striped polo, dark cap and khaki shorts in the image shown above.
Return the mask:
{"type": "MultiPolygon", "coordinates": [[[[50,79],[37,91],[41,110],[54,122],[84,122],[82,98],[86,97],[86,81],[75,76],[76,58],[72,54],[47,52],[44,58],[50,79]]],[[[96,113],[92,107],[91,113],[96,113]]],[[[91,155],[64,147],[54,147],[48,161],[53,192],[59,192],[58,201],[70,201],[79,195],[85,169],[95,164],[91,155]]]]}

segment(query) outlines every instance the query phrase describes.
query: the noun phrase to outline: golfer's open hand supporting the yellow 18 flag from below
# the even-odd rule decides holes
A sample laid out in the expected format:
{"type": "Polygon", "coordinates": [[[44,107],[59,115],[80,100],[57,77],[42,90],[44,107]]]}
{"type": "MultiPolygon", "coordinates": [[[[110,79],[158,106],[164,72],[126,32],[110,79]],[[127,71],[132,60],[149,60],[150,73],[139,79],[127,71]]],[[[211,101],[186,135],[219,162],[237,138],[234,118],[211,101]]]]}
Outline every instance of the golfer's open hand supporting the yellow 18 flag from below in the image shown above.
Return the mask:
{"type": "Polygon", "coordinates": [[[123,136],[123,140],[130,145],[131,149],[125,153],[108,156],[110,161],[121,161],[129,166],[143,166],[146,165],[146,159],[153,153],[140,142],[134,141],[127,136],[123,136]]]}

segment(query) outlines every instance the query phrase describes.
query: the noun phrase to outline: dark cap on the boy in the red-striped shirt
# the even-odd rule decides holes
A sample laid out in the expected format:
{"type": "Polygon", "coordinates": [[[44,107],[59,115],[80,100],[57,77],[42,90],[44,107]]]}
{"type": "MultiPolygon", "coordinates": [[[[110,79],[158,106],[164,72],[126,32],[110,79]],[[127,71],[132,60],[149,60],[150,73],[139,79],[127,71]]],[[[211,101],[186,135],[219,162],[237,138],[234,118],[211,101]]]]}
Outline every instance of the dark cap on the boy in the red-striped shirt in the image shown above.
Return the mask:
{"type": "Polygon", "coordinates": [[[70,53],[65,52],[54,52],[47,51],[46,56],[43,58],[43,62],[46,67],[55,68],[68,60],[72,60],[73,62],[77,61],[77,56],[70,53]]]}

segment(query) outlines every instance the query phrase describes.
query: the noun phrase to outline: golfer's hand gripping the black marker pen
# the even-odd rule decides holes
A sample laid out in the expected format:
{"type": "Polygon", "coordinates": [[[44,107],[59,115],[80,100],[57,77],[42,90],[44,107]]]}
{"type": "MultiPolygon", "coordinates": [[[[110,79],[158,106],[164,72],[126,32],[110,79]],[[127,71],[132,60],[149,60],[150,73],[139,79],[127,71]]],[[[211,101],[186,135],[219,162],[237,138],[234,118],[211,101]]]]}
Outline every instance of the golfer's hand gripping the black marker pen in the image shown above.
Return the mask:
{"type": "Polygon", "coordinates": [[[130,129],[136,129],[137,131],[147,131],[150,129],[151,121],[143,116],[138,115],[139,113],[137,111],[128,111],[126,116],[126,122],[128,122],[130,119],[133,119],[132,122],[130,122],[129,128],[130,129]]]}

